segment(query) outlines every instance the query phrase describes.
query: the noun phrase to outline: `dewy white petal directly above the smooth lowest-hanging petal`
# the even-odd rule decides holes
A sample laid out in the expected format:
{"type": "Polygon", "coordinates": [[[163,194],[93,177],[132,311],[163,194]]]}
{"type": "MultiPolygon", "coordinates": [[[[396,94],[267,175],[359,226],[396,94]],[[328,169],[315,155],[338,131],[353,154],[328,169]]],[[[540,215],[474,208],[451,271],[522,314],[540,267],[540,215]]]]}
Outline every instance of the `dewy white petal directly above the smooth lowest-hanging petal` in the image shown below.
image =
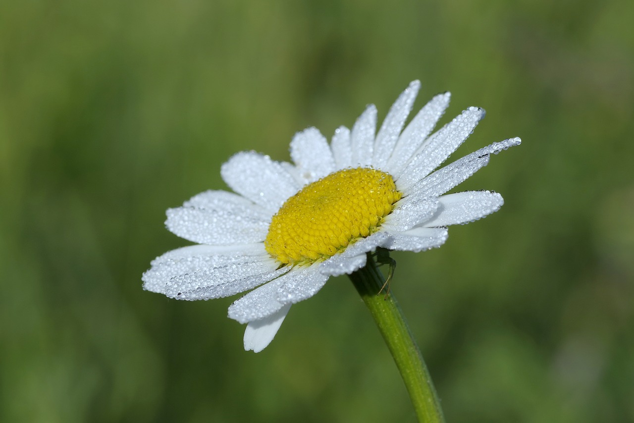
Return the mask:
{"type": "Polygon", "coordinates": [[[294,278],[295,273],[298,273],[297,269],[293,269],[286,275],[271,280],[271,282],[252,290],[249,294],[236,299],[229,306],[229,317],[240,323],[247,323],[277,313],[284,306],[277,299],[278,290],[289,278],[294,278]]]}

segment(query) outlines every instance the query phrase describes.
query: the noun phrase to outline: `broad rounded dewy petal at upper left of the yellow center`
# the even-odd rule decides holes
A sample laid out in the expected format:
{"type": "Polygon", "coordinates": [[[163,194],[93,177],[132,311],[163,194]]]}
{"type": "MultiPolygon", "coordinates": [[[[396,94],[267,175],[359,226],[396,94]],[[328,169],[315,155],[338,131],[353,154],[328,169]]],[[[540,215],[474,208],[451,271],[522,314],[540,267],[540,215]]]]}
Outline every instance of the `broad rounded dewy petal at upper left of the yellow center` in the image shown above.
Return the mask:
{"type": "Polygon", "coordinates": [[[280,163],[256,152],[233,155],[220,172],[232,190],[272,212],[300,188],[280,163]]]}

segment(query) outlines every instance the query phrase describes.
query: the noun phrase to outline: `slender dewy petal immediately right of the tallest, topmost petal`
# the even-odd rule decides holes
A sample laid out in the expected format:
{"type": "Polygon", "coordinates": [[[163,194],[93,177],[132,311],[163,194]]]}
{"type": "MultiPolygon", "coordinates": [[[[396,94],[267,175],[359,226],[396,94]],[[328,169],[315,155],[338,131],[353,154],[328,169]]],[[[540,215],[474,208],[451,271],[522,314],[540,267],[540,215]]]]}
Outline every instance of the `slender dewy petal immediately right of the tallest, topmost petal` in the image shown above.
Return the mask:
{"type": "Polygon", "coordinates": [[[443,116],[449,105],[450,97],[450,93],[438,94],[420,109],[420,112],[401,133],[394,147],[394,152],[392,152],[392,157],[385,167],[386,172],[391,175],[400,174],[443,116]]]}

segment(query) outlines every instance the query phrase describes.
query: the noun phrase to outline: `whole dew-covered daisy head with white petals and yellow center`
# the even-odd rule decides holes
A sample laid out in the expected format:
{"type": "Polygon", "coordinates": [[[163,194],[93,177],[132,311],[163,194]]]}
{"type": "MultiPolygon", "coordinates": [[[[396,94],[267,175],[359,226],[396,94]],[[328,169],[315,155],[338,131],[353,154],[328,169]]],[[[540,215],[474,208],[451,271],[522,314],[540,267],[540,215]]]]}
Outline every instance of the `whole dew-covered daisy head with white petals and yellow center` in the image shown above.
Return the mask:
{"type": "Polygon", "coordinates": [[[432,134],[450,94],[432,98],[403,129],[420,82],[389,110],[378,133],[369,105],[352,130],[339,127],[330,145],[314,127],[295,134],[293,163],[237,153],[221,175],[235,193],[207,191],[167,210],[167,229],[197,243],[152,261],[143,288],[185,300],[233,296],[229,308],[247,323],[245,349],[273,340],[290,306],[316,294],[331,276],[351,274],[377,247],[425,251],[447,239],[447,226],[497,211],[500,194],[443,195],[519,145],[493,143],[439,167],[472,133],[484,110],[467,108],[432,134]]]}

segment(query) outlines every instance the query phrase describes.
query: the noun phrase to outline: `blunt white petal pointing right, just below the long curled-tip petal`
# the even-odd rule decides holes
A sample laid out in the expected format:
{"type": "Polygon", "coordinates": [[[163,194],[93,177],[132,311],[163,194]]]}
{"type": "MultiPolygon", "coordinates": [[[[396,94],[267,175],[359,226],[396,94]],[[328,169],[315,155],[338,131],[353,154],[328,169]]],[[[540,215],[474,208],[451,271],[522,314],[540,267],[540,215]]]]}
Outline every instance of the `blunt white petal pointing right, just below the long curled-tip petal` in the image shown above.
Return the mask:
{"type": "Polygon", "coordinates": [[[496,212],[504,204],[502,196],[489,191],[467,191],[438,198],[440,207],[434,219],[424,226],[448,226],[469,223],[496,212]]]}

